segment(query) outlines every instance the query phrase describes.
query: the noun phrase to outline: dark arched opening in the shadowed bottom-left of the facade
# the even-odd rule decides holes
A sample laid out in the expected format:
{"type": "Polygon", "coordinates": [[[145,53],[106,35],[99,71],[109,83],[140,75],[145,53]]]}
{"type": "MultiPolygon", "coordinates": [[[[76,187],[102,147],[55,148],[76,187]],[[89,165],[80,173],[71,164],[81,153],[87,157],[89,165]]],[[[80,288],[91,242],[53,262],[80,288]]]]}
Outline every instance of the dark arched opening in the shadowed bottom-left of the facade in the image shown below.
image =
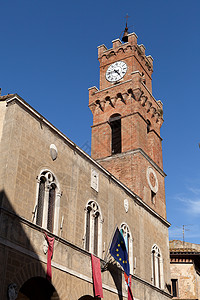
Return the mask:
{"type": "Polygon", "coordinates": [[[50,281],[36,276],[24,282],[16,300],[60,300],[60,298],[50,281]]]}

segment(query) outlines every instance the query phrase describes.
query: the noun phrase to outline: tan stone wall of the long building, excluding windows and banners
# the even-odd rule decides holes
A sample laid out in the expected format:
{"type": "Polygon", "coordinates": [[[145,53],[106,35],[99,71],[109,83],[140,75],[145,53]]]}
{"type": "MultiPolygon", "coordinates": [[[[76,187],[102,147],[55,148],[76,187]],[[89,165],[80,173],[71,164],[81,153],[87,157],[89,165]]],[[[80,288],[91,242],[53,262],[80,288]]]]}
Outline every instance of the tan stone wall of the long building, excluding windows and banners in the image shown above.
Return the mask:
{"type": "MultiPolygon", "coordinates": [[[[6,276],[0,297],[5,296],[10,282],[16,281],[20,287],[31,276],[45,276],[44,234],[43,229],[35,224],[33,212],[37,202],[37,177],[41,170],[50,170],[56,176],[62,194],[59,231],[53,235],[56,241],[52,259],[52,282],[60,299],[93,295],[90,254],[83,249],[85,207],[89,200],[98,203],[103,218],[102,253],[99,256],[105,257],[115,226],[127,223],[133,237],[133,261],[136,260],[133,274],[135,297],[140,300],[167,299],[169,224],[24,101],[9,103],[5,116],[0,144],[4,157],[3,161],[0,160],[3,181],[0,259],[4,261],[6,276]],[[58,149],[54,161],[50,155],[51,144],[58,149]],[[92,169],[99,175],[98,192],[91,188],[92,169]],[[129,203],[128,212],[124,208],[125,199],[129,203]],[[151,249],[154,244],[160,247],[164,261],[165,292],[152,285],[151,249]]],[[[116,272],[121,271],[117,268],[116,272]]],[[[124,279],[119,274],[121,292],[126,298],[124,279]]],[[[104,298],[116,299],[119,291],[109,271],[102,273],[102,280],[104,298]]]]}

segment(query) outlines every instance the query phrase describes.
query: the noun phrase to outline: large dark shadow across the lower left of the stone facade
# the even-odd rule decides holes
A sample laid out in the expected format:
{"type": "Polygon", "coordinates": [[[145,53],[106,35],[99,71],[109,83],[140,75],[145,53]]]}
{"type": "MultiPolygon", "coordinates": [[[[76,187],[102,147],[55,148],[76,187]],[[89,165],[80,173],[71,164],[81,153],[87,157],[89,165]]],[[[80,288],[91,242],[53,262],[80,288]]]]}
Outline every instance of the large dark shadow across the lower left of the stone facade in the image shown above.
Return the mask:
{"type": "Polygon", "coordinates": [[[42,236],[38,228],[16,214],[0,192],[0,299],[59,300],[28,236],[42,236]],[[18,296],[17,296],[18,294],[18,296]]]}

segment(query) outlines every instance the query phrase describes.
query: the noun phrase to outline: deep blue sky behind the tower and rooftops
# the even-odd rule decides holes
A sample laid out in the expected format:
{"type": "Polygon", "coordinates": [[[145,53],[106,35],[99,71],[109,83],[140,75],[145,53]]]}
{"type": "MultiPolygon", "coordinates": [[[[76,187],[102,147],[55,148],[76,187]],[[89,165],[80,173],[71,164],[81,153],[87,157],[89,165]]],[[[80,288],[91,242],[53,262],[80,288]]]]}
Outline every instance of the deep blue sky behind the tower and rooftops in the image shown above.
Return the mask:
{"type": "Polygon", "coordinates": [[[80,147],[90,144],[88,88],[99,85],[97,46],[112,46],[130,16],[154,58],[164,104],[163,159],[170,239],[200,243],[200,1],[0,0],[0,87],[18,93],[80,147]]]}

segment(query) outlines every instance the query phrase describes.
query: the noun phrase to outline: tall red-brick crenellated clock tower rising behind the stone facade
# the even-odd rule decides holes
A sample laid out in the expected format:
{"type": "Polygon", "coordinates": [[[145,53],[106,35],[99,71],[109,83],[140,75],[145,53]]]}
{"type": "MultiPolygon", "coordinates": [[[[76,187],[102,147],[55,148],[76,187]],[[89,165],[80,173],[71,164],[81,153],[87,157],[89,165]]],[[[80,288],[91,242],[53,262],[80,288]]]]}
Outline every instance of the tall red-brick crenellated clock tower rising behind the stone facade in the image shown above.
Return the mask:
{"type": "Polygon", "coordinates": [[[91,156],[166,218],[162,102],[152,95],[153,59],[135,33],[112,44],[98,47],[100,89],[89,89],[91,156]]]}

